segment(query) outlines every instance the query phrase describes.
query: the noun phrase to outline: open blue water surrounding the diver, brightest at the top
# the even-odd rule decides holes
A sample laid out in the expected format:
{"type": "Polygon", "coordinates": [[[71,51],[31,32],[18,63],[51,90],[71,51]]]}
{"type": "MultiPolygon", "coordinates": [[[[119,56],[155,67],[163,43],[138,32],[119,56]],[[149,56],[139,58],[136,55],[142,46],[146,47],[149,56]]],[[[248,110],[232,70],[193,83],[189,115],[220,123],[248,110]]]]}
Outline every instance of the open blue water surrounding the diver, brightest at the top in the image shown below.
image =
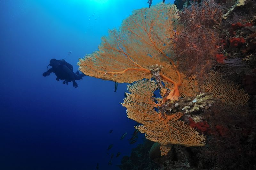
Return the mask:
{"type": "Polygon", "coordinates": [[[1,170],[90,170],[97,163],[115,170],[142,143],[143,134],[135,144],[127,140],[136,124],[119,104],[127,84],[114,93],[114,82],[87,76],[75,89],[53,73],[42,74],[52,58],[65,59],[76,71],[78,59],[97,50],[108,29],[120,26],[133,9],[148,7],[146,2],[0,0],[1,170]]]}

